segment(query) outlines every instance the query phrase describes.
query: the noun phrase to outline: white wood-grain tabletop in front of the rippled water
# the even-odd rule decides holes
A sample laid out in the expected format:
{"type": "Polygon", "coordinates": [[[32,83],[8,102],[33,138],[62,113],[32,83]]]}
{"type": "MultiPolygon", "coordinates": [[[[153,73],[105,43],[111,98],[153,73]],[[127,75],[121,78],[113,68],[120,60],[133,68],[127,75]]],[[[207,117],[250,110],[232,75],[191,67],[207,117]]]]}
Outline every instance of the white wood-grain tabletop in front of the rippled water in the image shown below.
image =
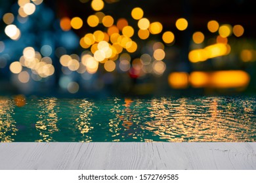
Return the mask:
{"type": "Polygon", "coordinates": [[[0,143],[0,169],[256,169],[256,143],[0,143]]]}

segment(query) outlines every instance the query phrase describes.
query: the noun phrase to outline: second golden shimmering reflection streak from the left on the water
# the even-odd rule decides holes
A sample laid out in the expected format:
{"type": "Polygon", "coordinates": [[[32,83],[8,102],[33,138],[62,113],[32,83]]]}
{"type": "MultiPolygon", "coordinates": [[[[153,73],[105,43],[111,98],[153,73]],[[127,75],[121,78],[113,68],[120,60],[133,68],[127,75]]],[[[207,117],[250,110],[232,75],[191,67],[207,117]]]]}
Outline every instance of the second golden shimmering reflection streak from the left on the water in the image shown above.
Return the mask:
{"type": "Polygon", "coordinates": [[[39,99],[37,118],[38,121],[35,124],[35,128],[39,131],[41,139],[38,142],[50,142],[54,141],[53,134],[58,132],[57,127],[58,118],[57,112],[60,111],[60,106],[57,104],[58,99],[46,98],[39,99]]]}

